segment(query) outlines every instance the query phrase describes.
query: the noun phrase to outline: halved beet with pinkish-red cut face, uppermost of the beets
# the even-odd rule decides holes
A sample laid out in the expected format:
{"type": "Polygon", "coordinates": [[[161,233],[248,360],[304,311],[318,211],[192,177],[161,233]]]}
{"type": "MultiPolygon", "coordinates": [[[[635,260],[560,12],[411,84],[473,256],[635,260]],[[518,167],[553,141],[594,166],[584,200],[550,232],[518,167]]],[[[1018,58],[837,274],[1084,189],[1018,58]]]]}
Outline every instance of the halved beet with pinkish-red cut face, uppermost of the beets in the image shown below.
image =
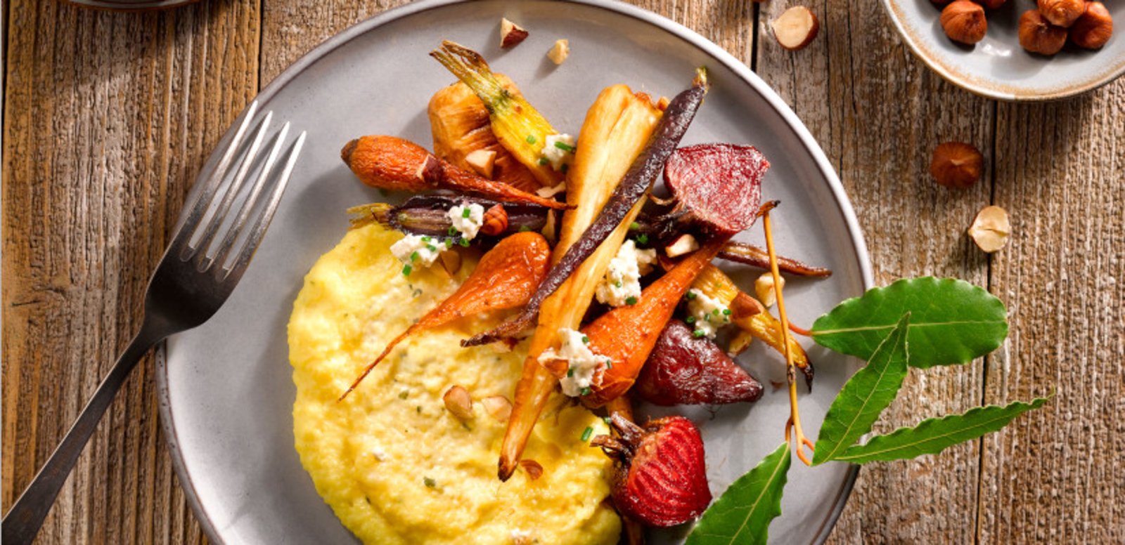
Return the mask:
{"type": "Polygon", "coordinates": [[[731,235],[754,222],[768,169],[770,162],[752,146],[699,144],[672,153],[664,164],[664,183],[677,211],[686,212],[678,222],[731,235]]]}

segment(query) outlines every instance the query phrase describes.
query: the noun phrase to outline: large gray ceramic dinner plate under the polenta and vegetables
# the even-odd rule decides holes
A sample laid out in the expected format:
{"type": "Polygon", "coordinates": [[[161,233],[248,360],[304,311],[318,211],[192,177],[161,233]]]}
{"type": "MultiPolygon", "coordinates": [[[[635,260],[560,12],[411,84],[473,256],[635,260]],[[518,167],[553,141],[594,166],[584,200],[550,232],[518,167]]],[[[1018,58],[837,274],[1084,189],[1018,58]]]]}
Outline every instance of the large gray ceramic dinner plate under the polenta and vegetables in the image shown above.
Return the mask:
{"type": "MultiPolygon", "coordinates": [[[[354,543],[316,494],[292,447],[296,391],[286,324],[302,278],[343,236],[344,209],[380,199],[340,162],[341,146],[364,134],[430,143],[426,102],[453,81],[426,55],[443,38],[480,51],[557,128],[574,133],[604,87],[628,83],[673,96],[690,84],[696,66],[706,66],[713,87],[685,144],[758,146],[773,164],[765,197],[782,201],[774,216],[778,247],[835,271],[828,280],[790,282],[786,302],[794,321],[811,325],[872,284],[860,228],[824,153],[773,91],[714,44],[618,2],[428,1],[389,11],[327,40],[262,91],[263,110],[308,131],[302,158],[231,300],[205,326],[166,344],[158,373],[161,416],[180,482],[216,543],[354,543]],[[497,45],[501,16],[531,33],[508,52],[497,45]],[[570,57],[561,66],[544,56],[557,38],[570,40],[570,57]]],[[[205,172],[214,162],[213,156],[205,172]]],[[[760,229],[748,237],[760,240],[760,229]]],[[[737,280],[749,285],[757,273],[744,269],[737,280]]],[[[810,356],[818,364],[817,384],[802,394],[801,414],[814,433],[858,362],[818,347],[810,347],[810,356]]],[[[759,379],[784,380],[781,358],[760,347],[741,362],[759,379]]],[[[702,428],[718,493],[783,440],[789,407],[786,396],[774,391],[755,406],[724,408],[713,417],[705,410],[687,414],[702,428]]],[[[847,465],[794,465],[784,515],[771,536],[778,543],[822,541],[854,475],[847,465]]],[[[682,536],[657,537],[660,543],[682,536]]]]}

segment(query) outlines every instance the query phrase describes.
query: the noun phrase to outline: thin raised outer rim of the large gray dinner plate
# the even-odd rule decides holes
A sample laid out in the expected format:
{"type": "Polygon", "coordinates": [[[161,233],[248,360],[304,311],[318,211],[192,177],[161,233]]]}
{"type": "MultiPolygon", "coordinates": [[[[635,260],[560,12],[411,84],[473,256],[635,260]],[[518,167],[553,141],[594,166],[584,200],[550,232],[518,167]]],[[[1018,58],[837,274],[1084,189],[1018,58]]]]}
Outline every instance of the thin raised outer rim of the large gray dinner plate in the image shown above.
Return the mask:
{"type": "MultiPolygon", "coordinates": [[[[366,33],[374,31],[375,29],[397,21],[399,19],[411,17],[424,11],[430,11],[434,9],[444,8],[447,6],[468,3],[472,0],[420,0],[416,2],[398,6],[374,17],[364,19],[362,21],[356,22],[354,25],[344,28],[343,30],[332,35],[326,38],[320,45],[310,49],[308,53],[304,54],[300,58],[295,61],[288,67],[286,67],[280,74],[278,74],[269,84],[266,85],[251,102],[258,102],[263,109],[268,106],[270,99],[273,98],[281,89],[295,80],[300,73],[306,69],[312,66],[314,63],[320,61],[322,57],[331,53],[332,51],[346,45],[352,39],[361,36],[366,33]]],[[[844,190],[844,184],[840,182],[839,176],[836,174],[836,170],[832,167],[831,163],[828,161],[827,155],[824,149],[817,143],[816,138],[809,131],[804,122],[796,117],[792,108],[786,105],[781,97],[762,80],[754,71],[752,71],[745,63],[736,58],[734,55],[728,53],[726,49],[714,44],[710,39],[703,37],[699,33],[672,20],[663,17],[658,13],[638,8],[632,4],[627,4],[623,2],[613,2],[612,0],[544,0],[555,1],[560,3],[574,3],[579,6],[588,6],[593,8],[604,9],[618,15],[626,17],[631,17],[633,19],[640,20],[651,25],[660,30],[667,31],[675,37],[678,37],[688,44],[699,47],[706,55],[711,56],[719,63],[721,63],[726,69],[734,72],[745,84],[749,85],[755,92],[757,92],[773,109],[776,111],[783,120],[789,125],[798,137],[801,145],[806,148],[812,161],[816,163],[817,167],[824,174],[825,180],[829,191],[832,194],[834,203],[840,212],[845,225],[848,227],[848,235],[852,239],[852,245],[855,248],[856,263],[860,265],[860,280],[863,284],[863,290],[870,290],[874,288],[874,273],[871,265],[871,254],[867,251],[866,242],[863,237],[863,229],[860,226],[860,221],[855,215],[855,209],[852,207],[852,201],[847,197],[847,192],[844,190]]],[[[885,1],[885,0],[884,0],[885,1]]],[[[249,108],[249,103],[248,103],[249,108]]],[[[235,126],[243,116],[245,110],[241,112],[235,121],[232,122],[231,128],[219,138],[216,143],[212,154],[208,156],[207,161],[200,169],[200,175],[214,170],[216,162],[218,161],[217,153],[226,147],[227,143],[234,135],[235,126]]],[[[197,178],[198,180],[198,178],[197,178]]],[[[188,199],[191,199],[191,193],[198,184],[192,184],[192,191],[189,193],[188,199]]],[[[180,221],[182,222],[183,216],[181,215],[180,221]]],[[[225,545],[227,539],[220,536],[208,515],[207,509],[199,500],[199,494],[196,491],[195,482],[191,475],[187,471],[187,466],[183,462],[182,451],[179,446],[178,435],[176,427],[173,425],[172,407],[169,399],[169,376],[168,376],[168,342],[162,340],[158,347],[156,356],[156,393],[159,403],[159,414],[161,428],[164,430],[164,435],[168,438],[169,446],[169,457],[171,458],[173,470],[176,471],[177,479],[180,487],[184,491],[184,497],[188,505],[191,507],[192,512],[196,515],[196,519],[199,523],[200,528],[208,539],[216,544],[225,545]]],[[[832,507],[828,512],[828,516],[821,521],[820,527],[813,538],[813,544],[820,545],[828,539],[831,529],[836,526],[836,521],[844,510],[844,506],[847,503],[847,499],[855,487],[855,480],[860,472],[860,465],[849,464],[847,474],[844,482],[840,484],[837,491],[836,498],[832,500],[832,507]]]]}

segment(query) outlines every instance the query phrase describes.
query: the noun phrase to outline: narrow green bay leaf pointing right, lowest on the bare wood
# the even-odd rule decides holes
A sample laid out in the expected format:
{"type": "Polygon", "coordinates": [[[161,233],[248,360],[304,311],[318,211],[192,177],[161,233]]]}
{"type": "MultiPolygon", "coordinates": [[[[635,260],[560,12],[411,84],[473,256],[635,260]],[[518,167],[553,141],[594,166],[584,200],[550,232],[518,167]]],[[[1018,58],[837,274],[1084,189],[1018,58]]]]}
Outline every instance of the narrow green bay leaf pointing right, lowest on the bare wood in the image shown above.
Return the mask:
{"type": "Polygon", "coordinates": [[[1017,416],[1043,407],[1051,397],[1037,398],[1029,403],[1015,401],[1004,407],[976,407],[962,415],[922,420],[912,428],[899,428],[886,435],[876,435],[865,445],[848,448],[836,460],[862,464],[937,454],[957,443],[999,430],[1017,416]]]}

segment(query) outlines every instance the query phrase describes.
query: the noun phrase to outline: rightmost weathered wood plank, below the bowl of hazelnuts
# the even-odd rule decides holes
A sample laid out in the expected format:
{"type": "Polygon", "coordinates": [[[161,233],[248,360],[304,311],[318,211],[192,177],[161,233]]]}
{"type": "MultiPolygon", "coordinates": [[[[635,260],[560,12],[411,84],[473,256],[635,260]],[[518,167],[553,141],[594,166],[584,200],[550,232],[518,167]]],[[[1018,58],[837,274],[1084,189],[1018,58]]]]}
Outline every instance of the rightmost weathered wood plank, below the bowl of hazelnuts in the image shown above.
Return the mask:
{"type": "Polygon", "coordinates": [[[1012,333],[986,401],[1048,394],[984,439],[980,543],[1125,542],[1125,81],[1001,105],[993,292],[1012,333]]]}

